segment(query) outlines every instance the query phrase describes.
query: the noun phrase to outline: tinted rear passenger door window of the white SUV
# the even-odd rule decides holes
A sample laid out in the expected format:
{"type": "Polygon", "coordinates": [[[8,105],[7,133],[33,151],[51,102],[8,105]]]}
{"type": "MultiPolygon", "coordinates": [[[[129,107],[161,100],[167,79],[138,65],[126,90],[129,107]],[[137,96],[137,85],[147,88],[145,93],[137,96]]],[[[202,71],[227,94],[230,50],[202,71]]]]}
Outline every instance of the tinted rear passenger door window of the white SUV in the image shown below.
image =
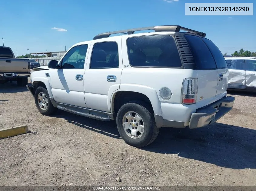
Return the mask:
{"type": "Polygon", "coordinates": [[[118,45],[116,42],[95,43],[90,68],[118,68],[118,45]]]}

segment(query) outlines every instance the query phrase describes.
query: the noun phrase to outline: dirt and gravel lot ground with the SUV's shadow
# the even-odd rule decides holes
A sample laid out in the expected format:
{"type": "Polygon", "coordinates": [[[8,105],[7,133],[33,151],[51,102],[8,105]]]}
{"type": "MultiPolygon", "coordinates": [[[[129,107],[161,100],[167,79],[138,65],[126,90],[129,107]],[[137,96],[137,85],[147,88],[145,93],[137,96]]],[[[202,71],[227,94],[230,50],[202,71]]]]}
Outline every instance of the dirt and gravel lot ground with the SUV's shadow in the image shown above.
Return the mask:
{"type": "Polygon", "coordinates": [[[0,128],[31,131],[0,140],[0,185],[255,185],[256,97],[233,95],[233,110],[214,125],[161,128],[138,149],[115,122],[43,116],[26,88],[0,84],[0,128]]]}

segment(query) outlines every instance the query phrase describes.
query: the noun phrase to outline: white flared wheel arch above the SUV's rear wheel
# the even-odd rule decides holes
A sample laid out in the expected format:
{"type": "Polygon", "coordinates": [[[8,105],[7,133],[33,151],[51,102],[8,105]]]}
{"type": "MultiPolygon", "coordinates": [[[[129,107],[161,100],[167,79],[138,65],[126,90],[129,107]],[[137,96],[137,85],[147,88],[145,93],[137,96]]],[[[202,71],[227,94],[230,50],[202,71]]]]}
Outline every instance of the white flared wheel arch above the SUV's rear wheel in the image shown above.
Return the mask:
{"type": "Polygon", "coordinates": [[[132,91],[144,94],[150,100],[154,113],[162,116],[160,101],[155,89],[138,84],[120,84],[120,88],[118,90],[115,90],[112,94],[108,94],[108,106],[110,107],[111,113],[114,113],[114,107],[112,103],[114,102],[116,93],[119,91],[132,91]]]}

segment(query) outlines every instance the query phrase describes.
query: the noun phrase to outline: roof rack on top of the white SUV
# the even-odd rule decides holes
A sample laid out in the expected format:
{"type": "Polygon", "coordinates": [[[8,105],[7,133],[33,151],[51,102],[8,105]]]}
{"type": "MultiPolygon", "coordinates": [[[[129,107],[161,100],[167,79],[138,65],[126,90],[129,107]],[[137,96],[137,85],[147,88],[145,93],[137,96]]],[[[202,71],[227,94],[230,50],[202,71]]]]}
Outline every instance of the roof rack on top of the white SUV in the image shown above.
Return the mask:
{"type": "Polygon", "coordinates": [[[180,25],[162,25],[162,26],[155,26],[155,27],[142,27],[142,28],[134,28],[134,29],[128,29],[128,30],[118,30],[114,32],[107,32],[107,33],[101,33],[96,35],[93,40],[101,39],[101,38],[107,38],[111,34],[118,34],[118,33],[124,33],[124,34],[134,34],[135,31],[140,30],[155,30],[155,32],[180,32],[180,30],[185,30],[186,32],[193,33],[202,37],[205,37],[205,33],[188,29],[185,27],[181,27],[180,25]]]}

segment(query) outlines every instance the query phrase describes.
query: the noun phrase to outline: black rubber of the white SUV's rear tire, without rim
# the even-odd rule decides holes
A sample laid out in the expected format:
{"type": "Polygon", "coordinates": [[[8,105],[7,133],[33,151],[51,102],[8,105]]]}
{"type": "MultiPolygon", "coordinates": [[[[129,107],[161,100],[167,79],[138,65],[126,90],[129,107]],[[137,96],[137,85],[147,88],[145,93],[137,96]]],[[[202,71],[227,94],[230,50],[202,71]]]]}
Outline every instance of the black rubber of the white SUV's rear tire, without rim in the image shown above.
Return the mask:
{"type": "Polygon", "coordinates": [[[151,111],[150,107],[142,101],[132,101],[125,103],[118,110],[116,119],[118,132],[128,145],[135,147],[145,147],[155,141],[158,136],[159,128],[156,127],[154,113],[151,111]],[[140,138],[131,138],[125,132],[123,127],[123,117],[125,113],[129,111],[138,113],[144,122],[144,132],[140,138]]]}

